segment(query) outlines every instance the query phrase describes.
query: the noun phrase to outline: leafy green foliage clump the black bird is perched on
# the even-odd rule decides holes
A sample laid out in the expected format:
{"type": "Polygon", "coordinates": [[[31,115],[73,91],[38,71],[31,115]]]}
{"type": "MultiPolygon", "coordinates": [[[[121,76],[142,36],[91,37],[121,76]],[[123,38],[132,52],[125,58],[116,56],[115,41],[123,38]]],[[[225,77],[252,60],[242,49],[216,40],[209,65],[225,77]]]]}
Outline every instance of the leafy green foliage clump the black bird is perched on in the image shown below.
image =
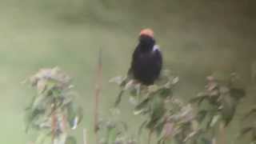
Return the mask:
{"type": "Polygon", "coordinates": [[[199,131],[193,107],[174,98],[173,90],[178,81],[178,77],[170,75],[168,70],[163,71],[151,86],[129,76],[110,80],[121,86],[115,106],[121,102],[124,92],[128,93],[134,105],[134,115],[140,114],[146,119],[139,127],[138,135],[143,129],[149,130],[149,142],[150,135],[157,134],[158,143],[190,142],[199,131]]]}

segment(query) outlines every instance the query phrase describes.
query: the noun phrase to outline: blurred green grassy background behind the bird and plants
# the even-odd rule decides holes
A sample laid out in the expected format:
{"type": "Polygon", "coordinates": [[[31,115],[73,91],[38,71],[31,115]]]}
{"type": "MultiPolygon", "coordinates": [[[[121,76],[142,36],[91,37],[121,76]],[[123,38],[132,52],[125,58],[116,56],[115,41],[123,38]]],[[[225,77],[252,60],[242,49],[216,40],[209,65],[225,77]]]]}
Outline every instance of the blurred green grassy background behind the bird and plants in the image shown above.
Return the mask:
{"type": "MultiPolygon", "coordinates": [[[[0,1],[0,143],[26,143],[24,109],[36,94],[21,82],[43,67],[60,66],[74,78],[84,108],[82,128],[94,143],[93,94],[98,49],[103,50],[100,114],[106,116],[118,93],[108,80],[126,74],[138,33],[150,27],[161,46],[164,66],[180,76],[176,96],[193,97],[209,74],[236,71],[248,98],[239,114],[256,102],[250,85],[256,60],[254,0],[1,0],[0,1]]],[[[239,115],[238,114],[238,115],[239,115]]],[[[127,101],[122,118],[136,128],[127,101]]],[[[239,118],[236,118],[237,122],[239,118]]],[[[233,122],[230,131],[237,129],[233,122]]],[[[230,142],[234,133],[228,134],[230,142]]]]}

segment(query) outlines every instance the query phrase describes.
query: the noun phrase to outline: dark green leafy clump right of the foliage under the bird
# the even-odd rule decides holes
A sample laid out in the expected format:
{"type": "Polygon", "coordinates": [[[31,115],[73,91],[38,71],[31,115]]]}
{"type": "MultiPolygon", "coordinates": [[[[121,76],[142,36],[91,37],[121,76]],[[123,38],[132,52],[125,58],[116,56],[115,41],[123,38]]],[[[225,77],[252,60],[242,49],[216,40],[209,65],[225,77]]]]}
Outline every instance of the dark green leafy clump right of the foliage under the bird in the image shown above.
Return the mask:
{"type": "Polygon", "coordinates": [[[216,128],[220,130],[222,143],[225,141],[225,128],[234,118],[241,98],[246,96],[237,74],[231,74],[229,80],[221,81],[214,76],[206,78],[205,90],[190,100],[198,109],[198,122],[210,139],[216,138],[216,128]]]}

